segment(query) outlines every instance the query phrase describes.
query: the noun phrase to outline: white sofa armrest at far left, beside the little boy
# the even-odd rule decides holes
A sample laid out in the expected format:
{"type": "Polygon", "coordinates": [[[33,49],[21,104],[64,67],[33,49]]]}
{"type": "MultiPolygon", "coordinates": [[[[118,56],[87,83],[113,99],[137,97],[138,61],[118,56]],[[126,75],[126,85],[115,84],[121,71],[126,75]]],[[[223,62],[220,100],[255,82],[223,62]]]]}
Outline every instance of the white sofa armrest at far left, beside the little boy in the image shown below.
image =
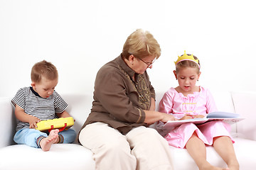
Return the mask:
{"type": "Polygon", "coordinates": [[[14,144],[16,118],[11,98],[0,98],[0,148],[14,144]]]}

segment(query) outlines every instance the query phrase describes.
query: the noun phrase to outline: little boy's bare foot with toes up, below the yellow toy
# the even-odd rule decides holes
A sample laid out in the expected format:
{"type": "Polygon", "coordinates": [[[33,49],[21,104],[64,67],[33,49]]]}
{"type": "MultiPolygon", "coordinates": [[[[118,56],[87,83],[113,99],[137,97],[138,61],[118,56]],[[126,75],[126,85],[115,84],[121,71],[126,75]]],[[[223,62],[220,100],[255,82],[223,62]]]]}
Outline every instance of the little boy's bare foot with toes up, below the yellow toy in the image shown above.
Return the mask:
{"type": "Polygon", "coordinates": [[[43,140],[41,140],[39,145],[43,151],[50,150],[51,145],[53,145],[58,141],[58,132],[59,132],[58,129],[51,130],[48,137],[43,138],[43,140]]]}

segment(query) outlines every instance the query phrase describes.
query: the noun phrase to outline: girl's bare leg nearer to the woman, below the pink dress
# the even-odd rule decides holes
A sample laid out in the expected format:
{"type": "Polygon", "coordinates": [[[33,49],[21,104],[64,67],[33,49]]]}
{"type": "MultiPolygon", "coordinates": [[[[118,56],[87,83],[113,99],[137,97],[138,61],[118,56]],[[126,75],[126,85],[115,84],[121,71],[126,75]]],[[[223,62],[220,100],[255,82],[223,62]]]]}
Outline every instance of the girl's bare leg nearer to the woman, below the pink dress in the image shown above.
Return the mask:
{"type": "Polygon", "coordinates": [[[196,162],[199,170],[221,170],[223,168],[212,166],[209,162],[206,160],[206,145],[203,143],[202,140],[198,138],[196,135],[196,132],[193,133],[191,138],[186,143],[186,149],[188,150],[188,153],[191,155],[191,157],[196,162]]]}

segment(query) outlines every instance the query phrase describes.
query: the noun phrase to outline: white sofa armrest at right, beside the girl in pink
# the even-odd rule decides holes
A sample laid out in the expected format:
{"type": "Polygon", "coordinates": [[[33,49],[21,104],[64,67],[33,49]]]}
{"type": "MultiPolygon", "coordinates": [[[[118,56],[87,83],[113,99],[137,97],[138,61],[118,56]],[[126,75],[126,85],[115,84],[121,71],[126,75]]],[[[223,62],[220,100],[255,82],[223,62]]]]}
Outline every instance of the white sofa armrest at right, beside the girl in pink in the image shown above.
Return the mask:
{"type": "Polygon", "coordinates": [[[245,120],[237,123],[238,137],[256,140],[255,104],[256,91],[235,91],[231,93],[235,113],[240,114],[245,120]]]}

